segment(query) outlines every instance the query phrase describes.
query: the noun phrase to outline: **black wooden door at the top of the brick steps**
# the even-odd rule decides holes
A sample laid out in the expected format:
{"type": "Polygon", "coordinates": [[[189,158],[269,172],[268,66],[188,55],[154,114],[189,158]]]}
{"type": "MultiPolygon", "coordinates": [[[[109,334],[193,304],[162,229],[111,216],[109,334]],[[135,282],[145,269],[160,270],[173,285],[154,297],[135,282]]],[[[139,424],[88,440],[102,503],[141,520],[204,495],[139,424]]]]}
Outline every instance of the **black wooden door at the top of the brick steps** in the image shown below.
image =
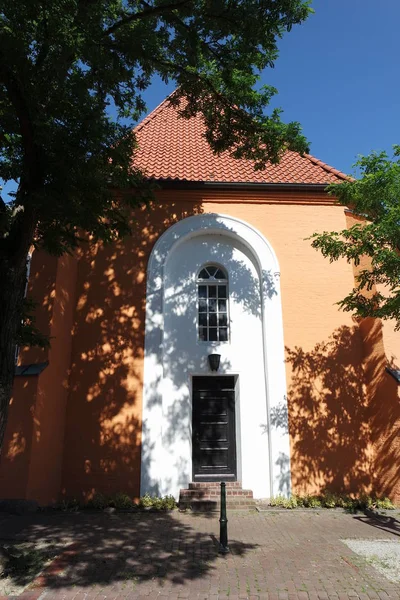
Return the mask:
{"type": "Polygon", "coordinates": [[[193,377],[193,481],[236,481],[234,377],[193,377]]]}

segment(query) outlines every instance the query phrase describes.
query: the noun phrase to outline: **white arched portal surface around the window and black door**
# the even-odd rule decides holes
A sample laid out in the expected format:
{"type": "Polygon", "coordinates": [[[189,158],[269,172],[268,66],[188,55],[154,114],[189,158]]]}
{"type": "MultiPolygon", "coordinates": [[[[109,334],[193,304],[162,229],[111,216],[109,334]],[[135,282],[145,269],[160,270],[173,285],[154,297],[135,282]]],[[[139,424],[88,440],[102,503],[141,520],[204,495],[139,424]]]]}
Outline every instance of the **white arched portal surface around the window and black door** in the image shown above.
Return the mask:
{"type": "Polygon", "coordinates": [[[192,377],[234,375],[238,479],[254,496],[290,492],[290,453],[279,266],[268,241],[233,217],[202,214],[170,227],[148,265],[141,494],[172,494],[192,481],[192,377]],[[230,337],[197,335],[197,274],[228,274],[230,337]]]}

